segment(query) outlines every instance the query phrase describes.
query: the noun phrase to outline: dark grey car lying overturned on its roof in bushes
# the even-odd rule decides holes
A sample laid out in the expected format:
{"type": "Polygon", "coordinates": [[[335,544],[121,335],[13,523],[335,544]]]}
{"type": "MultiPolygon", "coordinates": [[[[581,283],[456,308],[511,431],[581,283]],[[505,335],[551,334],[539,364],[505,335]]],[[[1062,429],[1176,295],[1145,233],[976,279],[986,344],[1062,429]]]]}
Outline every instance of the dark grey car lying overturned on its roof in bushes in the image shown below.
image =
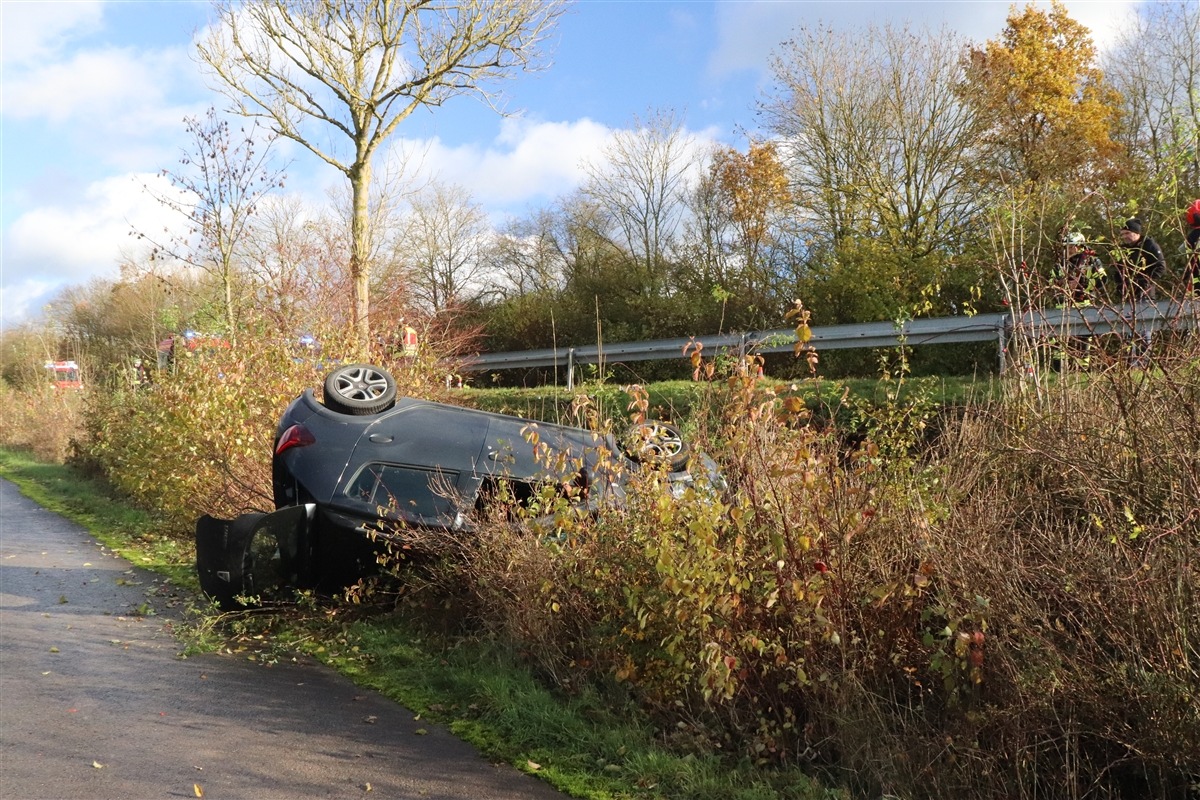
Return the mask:
{"type": "Polygon", "coordinates": [[[619,439],[414,398],[397,398],[383,368],[347,365],[280,419],[272,456],[275,511],[236,519],[202,517],[197,571],[222,607],[278,587],[337,590],[373,571],[382,537],[436,528],[470,535],[503,483],[530,497],[571,487],[588,509],[619,503],[623,481],[647,465],[673,492],[720,481],[678,428],[644,422],[619,439]],[[564,473],[564,465],[566,473],[564,473]]]}

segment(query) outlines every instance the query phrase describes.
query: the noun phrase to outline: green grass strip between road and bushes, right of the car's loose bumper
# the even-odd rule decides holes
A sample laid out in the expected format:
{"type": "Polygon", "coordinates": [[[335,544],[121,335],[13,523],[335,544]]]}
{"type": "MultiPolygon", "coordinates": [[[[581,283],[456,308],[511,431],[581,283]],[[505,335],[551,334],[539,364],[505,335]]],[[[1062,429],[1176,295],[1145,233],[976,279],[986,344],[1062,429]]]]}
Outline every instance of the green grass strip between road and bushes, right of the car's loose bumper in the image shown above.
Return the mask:
{"type": "MultiPolygon", "coordinates": [[[[616,688],[547,690],[505,645],[445,638],[401,618],[347,628],[366,657],[330,658],[362,685],[440,722],[491,758],[576,798],[768,800],[845,796],[799,771],[766,771],[659,744],[653,726],[616,688]]],[[[358,654],[355,654],[356,656],[358,654]]]]}

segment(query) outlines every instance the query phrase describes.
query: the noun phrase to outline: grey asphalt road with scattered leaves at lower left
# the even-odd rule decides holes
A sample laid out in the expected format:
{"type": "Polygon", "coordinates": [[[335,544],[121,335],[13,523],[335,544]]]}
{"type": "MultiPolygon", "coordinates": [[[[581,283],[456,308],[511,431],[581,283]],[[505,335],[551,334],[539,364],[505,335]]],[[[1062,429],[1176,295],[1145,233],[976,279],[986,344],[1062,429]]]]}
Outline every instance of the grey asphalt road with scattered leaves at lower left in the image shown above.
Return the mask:
{"type": "Polygon", "coordinates": [[[155,588],[0,480],[0,799],[565,796],[319,663],[180,658],[155,588]]]}

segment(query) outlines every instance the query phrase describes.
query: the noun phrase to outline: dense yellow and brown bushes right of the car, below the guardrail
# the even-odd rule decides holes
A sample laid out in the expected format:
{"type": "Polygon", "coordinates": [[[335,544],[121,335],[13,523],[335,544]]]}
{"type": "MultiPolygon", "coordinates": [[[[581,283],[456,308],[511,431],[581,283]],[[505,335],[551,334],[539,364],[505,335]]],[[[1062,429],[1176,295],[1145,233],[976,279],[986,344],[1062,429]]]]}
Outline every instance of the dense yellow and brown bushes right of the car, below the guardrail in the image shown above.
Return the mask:
{"type": "Polygon", "coordinates": [[[565,542],[497,529],[442,578],[559,685],[619,681],[685,748],[870,796],[1190,796],[1196,362],[1010,385],[930,450],[910,405],[848,449],[733,378],[691,423],[727,494],[646,474],[622,507],[560,515],[565,542]]]}

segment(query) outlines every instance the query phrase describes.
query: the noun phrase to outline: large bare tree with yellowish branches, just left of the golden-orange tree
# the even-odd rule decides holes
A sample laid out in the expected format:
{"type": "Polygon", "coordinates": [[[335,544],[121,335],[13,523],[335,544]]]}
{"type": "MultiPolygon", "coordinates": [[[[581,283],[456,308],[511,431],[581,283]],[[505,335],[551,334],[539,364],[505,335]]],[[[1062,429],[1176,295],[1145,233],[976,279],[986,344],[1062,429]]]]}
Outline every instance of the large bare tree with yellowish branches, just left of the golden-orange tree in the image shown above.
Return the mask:
{"type": "Polygon", "coordinates": [[[954,92],[959,47],[892,26],[802,29],[780,47],[760,107],[818,239],[877,236],[919,254],[954,234],[978,133],[954,92]]]}

